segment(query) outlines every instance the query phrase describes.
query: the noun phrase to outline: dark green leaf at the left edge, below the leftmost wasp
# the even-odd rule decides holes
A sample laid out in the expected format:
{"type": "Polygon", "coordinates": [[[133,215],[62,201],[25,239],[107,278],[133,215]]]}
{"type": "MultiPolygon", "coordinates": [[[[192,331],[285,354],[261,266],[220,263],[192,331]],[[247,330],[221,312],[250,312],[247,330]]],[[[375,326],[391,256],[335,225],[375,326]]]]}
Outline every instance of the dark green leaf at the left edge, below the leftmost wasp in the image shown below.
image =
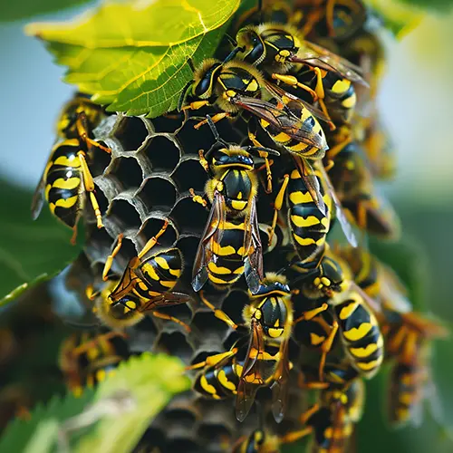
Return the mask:
{"type": "MultiPolygon", "coordinates": [[[[0,180],[0,307],[11,303],[34,284],[58,274],[80,251],[72,246],[72,232],[47,207],[34,222],[30,214],[33,194],[0,180]],[[2,298],[2,295],[6,294],[2,298]]],[[[79,233],[79,239],[82,234],[79,233]]]]}

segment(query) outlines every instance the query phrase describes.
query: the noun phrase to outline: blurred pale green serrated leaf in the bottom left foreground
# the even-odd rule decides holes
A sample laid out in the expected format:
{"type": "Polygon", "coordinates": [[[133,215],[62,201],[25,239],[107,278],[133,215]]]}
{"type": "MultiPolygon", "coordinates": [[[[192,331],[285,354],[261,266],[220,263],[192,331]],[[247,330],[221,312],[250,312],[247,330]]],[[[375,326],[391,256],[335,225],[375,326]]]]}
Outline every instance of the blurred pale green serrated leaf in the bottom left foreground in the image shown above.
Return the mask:
{"type": "Polygon", "coordinates": [[[0,450],[31,452],[39,446],[39,453],[49,453],[65,433],[72,451],[130,451],[171,396],[188,389],[183,372],[177,358],[148,352],[133,356],[97,390],[86,389],[81,398],[53,398],[36,408],[29,421],[15,419],[0,450]]]}

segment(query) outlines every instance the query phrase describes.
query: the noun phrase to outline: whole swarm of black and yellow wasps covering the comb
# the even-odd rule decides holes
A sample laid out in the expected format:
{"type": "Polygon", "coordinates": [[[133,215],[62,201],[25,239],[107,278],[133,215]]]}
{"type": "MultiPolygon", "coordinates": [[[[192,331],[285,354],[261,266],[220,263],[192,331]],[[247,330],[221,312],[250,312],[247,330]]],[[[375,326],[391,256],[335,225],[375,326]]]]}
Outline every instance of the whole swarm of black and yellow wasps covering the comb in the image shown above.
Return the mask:
{"type": "MultiPolygon", "coordinates": [[[[259,415],[255,429],[217,449],[277,452],[312,436],[313,451],[346,451],[364,380],[384,361],[390,421],[419,420],[432,388],[429,346],[447,332],[412,311],[398,276],[366,247],[367,235],[400,235],[374,184],[393,178],[395,163],[375,105],[383,55],[370,15],[359,0],[260,2],[236,18],[216,59],[193,68],[168,120],[182,117],[192,140],[214,141],[198,151],[204,190],[188,189],[207,213],[197,251],[160,246],[171,211],[119,273],[126,232],[116,235],[100,278],[85,288],[109,330],[63,343],[60,368],[75,393],[130,356],[124,330],[148,316],[200,341],[199,325],[167,309],[188,304],[235,331],[223,351],[188,359],[194,394],[234,401],[239,422],[254,407],[259,415]],[[225,123],[229,134],[220,132],[225,123]],[[336,224],[342,240],[333,241],[336,224]],[[217,303],[233,288],[247,298],[239,319],[217,303]],[[292,407],[294,390],[314,394],[313,404],[292,407]],[[283,433],[267,417],[280,423],[290,411],[299,427],[283,433]]],[[[112,154],[93,134],[106,117],[83,94],[65,107],[34,197],[34,217],[45,199],[74,239],[81,218],[104,227],[92,166],[97,154],[112,154]]],[[[141,442],[138,451],[151,447],[141,442]]]]}

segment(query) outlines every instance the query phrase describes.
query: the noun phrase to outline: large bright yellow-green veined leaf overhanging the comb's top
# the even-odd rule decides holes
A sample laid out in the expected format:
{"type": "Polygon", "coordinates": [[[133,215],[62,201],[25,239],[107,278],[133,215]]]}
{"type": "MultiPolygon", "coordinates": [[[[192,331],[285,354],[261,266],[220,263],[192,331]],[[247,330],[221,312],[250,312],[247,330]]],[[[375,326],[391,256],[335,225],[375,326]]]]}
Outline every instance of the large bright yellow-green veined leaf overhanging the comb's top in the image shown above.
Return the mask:
{"type": "Polygon", "coordinates": [[[159,116],[174,110],[195,66],[212,56],[240,0],[110,2],[64,24],[30,24],[65,81],[109,111],[159,116]]]}

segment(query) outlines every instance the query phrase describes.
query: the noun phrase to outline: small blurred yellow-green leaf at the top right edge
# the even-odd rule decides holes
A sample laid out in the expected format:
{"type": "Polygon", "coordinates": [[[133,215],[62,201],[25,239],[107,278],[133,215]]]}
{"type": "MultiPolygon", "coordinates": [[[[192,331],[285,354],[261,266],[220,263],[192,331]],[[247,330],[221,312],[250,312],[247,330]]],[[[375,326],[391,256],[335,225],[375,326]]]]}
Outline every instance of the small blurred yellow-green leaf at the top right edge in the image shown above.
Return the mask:
{"type": "Polygon", "coordinates": [[[398,38],[413,30],[423,17],[423,10],[410,5],[410,1],[365,0],[365,3],[382,17],[386,28],[398,38]]]}

